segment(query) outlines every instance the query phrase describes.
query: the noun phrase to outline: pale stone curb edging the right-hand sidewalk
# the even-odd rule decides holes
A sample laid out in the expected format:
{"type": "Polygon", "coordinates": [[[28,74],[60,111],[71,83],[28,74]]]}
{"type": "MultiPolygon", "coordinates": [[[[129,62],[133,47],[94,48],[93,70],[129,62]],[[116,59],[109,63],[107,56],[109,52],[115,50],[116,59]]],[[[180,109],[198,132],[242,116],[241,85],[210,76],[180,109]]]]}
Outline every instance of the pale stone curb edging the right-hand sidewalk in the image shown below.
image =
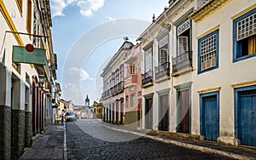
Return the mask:
{"type": "Polygon", "coordinates": [[[230,152],[230,151],[218,151],[216,149],[208,148],[206,146],[197,146],[197,145],[183,143],[183,142],[176,141],[176,140],[166,140],[164,138],[155,137],[155,136],[148,135],[148,134],[141,134],[141,133],[137,133],[137,132],[133,132],[133,131],[127,131],[127,130],[124,130],[124,129],[115,129],[115,128],[109,127],[107,125],[104,125],[104,124],[101,124],[101,125],[108,128],[108,129],[113,129],[113,130],[116,130],[116,131],[130,133],[130,134],[136,134],[136,135],[139,135],[139,136],[146,137],[148,139],[158,140],[158,141],[161,141],[161,142],[164,142],[164,143],[169,143],[169,144],[176,145],[176,146],[182,146],[182,147],[193,149],[193,150],[196,150],[196,151],[203,151],[203,152],[207,152],[207,153],[218,154],[218,155],[221,155],[221,156],[224,156],[224,157],[231,157],[231,158],[234,158],[234,159],[242,159],[242,160],[254,159],[253,157],[242,156],[242,155],[230,152]]]}

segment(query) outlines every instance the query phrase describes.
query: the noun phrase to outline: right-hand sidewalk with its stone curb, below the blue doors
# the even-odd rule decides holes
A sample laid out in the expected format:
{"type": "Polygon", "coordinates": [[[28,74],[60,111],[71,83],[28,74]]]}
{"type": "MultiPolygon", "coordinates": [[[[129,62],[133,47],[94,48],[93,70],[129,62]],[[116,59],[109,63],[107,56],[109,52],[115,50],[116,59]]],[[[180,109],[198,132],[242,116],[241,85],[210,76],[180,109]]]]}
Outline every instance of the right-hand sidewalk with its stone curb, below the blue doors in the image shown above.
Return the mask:
{"type": "MultiPolygon", "coordinates": [[[[194,140],[190,138],[182,138],[176,136],[168,136],[164,132],[156,133],[149,130],[137,130],[130,129],[122,125],[113,125],[109,123],[102,123],[109,129],[119,130],[126,133],[142,135],[149,139],[159,140],[165,143],[170,143],[177,146],[183,146],[197,151],[204,151],[222,155],[225,157],[231,157],[235,159],[256,159],[256,147],[247,146],[227,146],[218,144],[217,142],[207,140],[194,140]]],[[[166,132],[168,133],[168,132],[166,132]]]]}

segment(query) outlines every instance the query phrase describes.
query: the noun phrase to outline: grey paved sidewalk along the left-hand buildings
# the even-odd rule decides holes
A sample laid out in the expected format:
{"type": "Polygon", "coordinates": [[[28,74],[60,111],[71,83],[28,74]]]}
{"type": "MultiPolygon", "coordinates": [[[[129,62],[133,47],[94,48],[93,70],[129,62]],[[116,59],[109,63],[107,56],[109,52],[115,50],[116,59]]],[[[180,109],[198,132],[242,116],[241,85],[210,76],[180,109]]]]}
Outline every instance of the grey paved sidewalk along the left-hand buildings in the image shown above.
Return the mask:
{"type": "Polygon", "coordinates": [[[63,159],[64,124],[50,124],[35,144],[28,148],[22,159],[63,159]]]}

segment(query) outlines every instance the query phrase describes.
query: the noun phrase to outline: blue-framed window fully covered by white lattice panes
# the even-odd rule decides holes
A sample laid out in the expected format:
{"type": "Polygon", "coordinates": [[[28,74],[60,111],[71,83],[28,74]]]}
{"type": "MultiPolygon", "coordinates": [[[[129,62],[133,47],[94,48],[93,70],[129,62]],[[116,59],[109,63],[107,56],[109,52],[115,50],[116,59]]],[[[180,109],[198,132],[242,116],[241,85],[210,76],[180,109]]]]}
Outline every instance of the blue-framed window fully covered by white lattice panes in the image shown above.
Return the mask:
{"type": "Polygon", "coordinates": [[[199,39],[198,45],[199,73],[218,68],[218,30],[199,39]]]}

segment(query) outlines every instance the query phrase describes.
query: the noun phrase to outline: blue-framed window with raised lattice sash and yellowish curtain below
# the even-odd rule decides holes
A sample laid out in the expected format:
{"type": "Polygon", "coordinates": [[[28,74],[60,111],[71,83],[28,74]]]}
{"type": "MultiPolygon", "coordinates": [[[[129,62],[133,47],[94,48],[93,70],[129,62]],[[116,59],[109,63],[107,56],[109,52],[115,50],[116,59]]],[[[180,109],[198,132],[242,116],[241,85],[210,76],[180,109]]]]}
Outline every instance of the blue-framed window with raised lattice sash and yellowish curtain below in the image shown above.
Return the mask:
{"type": "Polygon", "coordinates": [[[256,56],[256,9],[233,21],[233,61],[256,56]]]}

